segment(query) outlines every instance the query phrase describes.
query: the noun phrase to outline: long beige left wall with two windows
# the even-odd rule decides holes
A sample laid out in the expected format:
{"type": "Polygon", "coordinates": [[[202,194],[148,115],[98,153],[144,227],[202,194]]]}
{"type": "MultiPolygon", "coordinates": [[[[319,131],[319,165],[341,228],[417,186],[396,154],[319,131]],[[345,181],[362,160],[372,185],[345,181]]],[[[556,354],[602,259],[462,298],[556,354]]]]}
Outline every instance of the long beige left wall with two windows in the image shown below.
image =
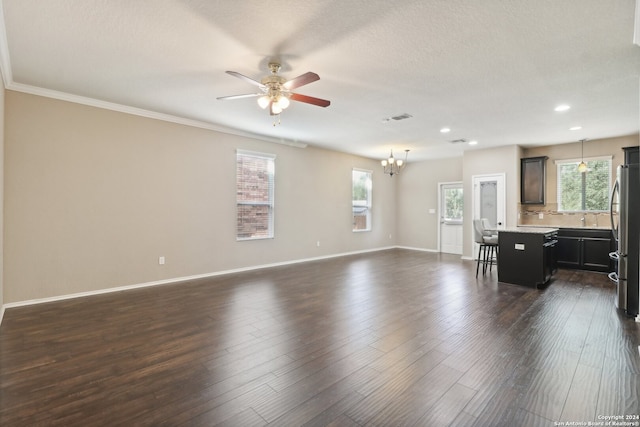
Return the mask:
{"type": "Polygon", "coordinates": [[[5,304],[395,245],[375,160],[13,91],[5,117],[5,304]],[[235,240],[238,148],[277,155],[274,239],[235,240]],[[354,167],[372,232],[351,231],[354,167]]]}

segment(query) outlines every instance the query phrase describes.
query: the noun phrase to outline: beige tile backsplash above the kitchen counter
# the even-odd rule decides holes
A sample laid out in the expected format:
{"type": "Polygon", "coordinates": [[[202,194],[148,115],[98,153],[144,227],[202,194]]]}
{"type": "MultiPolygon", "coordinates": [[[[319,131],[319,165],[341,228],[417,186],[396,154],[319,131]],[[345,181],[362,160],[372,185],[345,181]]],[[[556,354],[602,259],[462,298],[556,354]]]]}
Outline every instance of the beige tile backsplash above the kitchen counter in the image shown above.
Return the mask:
{"type": "MultiPolygon", "coordinates": [[[[609,212],[558,212],[556,203],[519,206],[518,225],[560,228],[611,228],[609,212]]],[[[617,213],[614,212],[614,215],[617,213]]]]}

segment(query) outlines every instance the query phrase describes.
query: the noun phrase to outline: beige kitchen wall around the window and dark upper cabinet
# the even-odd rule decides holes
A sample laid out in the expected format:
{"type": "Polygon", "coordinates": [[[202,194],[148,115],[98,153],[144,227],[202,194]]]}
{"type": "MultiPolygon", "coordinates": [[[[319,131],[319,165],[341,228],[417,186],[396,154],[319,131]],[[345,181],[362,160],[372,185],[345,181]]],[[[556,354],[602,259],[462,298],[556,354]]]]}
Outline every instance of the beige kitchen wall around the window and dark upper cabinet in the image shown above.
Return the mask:
{"type": "MultiPolygon", "coordinates": [[[[597,139],[584,143],[584,157],[612,155],[611,183],[615,181],[616,168],[624,163],[623,147],[638,145],[638,134],[616,138],[597,139]]],[[[532,147],[523,150],[523,157],[547,156],[547,180],[545,205],[521,205],[519,223],[522,225],[551,225],[558,227],[609,227],[609,214],[606,212],[584,215],[582,213],[557,212],[557,169],[556,160],[580,159],[579,142],[532,147]],[[538,214],[542,213],[542,218],[538,214]],[[585,218],[583,224],[581,218],[585,218]]]]}

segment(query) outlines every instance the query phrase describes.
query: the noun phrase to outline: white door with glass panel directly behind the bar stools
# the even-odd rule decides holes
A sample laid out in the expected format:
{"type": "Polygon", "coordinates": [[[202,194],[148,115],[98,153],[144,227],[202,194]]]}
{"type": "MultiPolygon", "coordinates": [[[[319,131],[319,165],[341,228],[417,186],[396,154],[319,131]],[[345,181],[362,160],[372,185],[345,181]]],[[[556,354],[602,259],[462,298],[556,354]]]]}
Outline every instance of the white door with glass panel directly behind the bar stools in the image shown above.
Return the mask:
{"type": "MultiPolygon", "coordinates": [[[[505,175],[474,175],[473,180],[473,219],[487,218],[492,228],[499,229],[506,224],[505,175]]],[[[473,242],[473,226],[471,228],[473,242]]],[[[473,254],[478,252],[474,243],[473,254]]]]}

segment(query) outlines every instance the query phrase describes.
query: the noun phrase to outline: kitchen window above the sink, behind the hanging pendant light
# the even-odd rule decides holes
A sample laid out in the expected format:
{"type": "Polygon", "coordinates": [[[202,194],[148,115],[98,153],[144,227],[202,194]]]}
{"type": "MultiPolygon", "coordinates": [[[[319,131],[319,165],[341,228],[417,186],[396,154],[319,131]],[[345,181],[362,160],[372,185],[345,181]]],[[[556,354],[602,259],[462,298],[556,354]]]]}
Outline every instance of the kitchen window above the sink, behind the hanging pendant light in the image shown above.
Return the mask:
{"type": "Polygon", "coordinates": [[[558,211],[607,211],[611,189],[611,157],[584,159],[585,173],[578,172],[580,160],[558,160],[558,211]]]}

